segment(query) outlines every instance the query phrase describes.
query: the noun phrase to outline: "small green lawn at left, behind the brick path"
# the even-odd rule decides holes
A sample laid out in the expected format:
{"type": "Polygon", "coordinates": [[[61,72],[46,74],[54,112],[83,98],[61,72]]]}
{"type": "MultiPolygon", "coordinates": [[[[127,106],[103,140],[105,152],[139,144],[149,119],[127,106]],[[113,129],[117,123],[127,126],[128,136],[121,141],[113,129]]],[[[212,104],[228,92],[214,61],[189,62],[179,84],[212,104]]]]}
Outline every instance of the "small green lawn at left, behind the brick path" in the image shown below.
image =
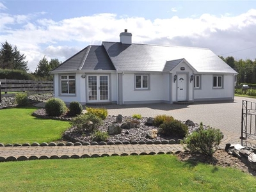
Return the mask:
{"type": "Polygon", "coordinates": [[[0,143],[51,142],[61,139],[68,122],[45,120],[31,116],[37,108],[0,110],[0,143]]]}

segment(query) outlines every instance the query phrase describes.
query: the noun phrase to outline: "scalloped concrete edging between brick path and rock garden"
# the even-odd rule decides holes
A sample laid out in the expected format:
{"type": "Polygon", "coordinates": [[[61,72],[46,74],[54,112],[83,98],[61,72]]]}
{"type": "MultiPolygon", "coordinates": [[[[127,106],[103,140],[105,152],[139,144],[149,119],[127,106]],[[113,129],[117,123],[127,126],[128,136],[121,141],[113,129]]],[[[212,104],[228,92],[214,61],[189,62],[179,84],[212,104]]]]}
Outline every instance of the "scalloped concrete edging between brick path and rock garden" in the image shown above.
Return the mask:
{"type": "Polygon", "coordinates": [[[72,142],[67,142],[67,143],[54,143],[54,142],[51,142],[51,143],[23,143],[23,144],[19,144],[19,143],[15,143],[15,144],[12,144],[12,143],[8,143],[6,145],[4,145],[3,143],[0,143],[0,147],[54,147],[54,146],[77,146],[77,145],[159,145],[159,144],[163,144],[163,145],[167,145],[167,144],[180,144],[182,140],[163,140],[163,141],[159,141],[159,140],[156,140],[156,141],[116,141],[116,142],[112,142],[112,141],[108,141],[108,142],[104,142],[104,141],[100,141],[100,142],[96,142],[96,141],[93,141],[92,143],[89,143],[89,142],[84,142],[84,143],[81,143],[81,142],[75,142],[75,143],[72,143],[72,142]]]}

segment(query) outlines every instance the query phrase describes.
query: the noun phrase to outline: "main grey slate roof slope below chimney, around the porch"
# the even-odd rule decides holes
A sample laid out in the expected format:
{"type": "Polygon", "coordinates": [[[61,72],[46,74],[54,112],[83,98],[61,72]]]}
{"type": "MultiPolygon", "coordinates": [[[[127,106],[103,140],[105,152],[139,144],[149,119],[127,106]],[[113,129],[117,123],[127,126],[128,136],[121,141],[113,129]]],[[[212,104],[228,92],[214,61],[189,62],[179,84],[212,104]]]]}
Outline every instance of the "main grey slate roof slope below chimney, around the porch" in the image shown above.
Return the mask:
{"type": "MultiPolygon", "coordinates": [[[[121,44],[102,42],[106,51],[120,71],[163,71],[166,61],[185,58],[197,72],[232,73],[235,70],[210,49],[166,45],[121,44]]],[[[171,68],[170,68],[171,69],[171,68]]]]}

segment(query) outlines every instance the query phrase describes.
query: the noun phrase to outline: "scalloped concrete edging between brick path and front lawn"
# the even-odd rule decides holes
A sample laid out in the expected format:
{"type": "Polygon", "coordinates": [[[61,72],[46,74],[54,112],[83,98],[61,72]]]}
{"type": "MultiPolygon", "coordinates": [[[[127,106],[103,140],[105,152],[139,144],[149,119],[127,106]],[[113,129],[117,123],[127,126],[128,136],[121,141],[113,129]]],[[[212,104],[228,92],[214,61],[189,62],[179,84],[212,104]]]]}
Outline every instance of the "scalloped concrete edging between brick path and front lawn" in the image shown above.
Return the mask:
{"type": "Polygon", "coordinates": [[[154,155],[161,155],[161,154],[179,154],[181,151],[177,150],[175,152],[169,151],[169,152],[141,152],[141,153],[136,153],[136,152],[132,152],[132,153],[122,153],[122,154],[116,154],[116,153],[112,153],[112,154],[92,154],[92,155],[88,155],[88,154],[83,154],[81,156],[78,156],[76,154],[68,156],[68,155],[61,155],[61,156],[57,156],[57,155],[53,155],[53,156],[19,156],[19,157],[15,157],[15,156],[9,156],[9,157],[1,157],[0,156],[0,162],[6,162],[6,161],[28,161],[28,160],[38,160],[38,159],[82,159],[82,158],[95,158],[95,157],[110,157],[110,156],[154,156],[154,155]]]}

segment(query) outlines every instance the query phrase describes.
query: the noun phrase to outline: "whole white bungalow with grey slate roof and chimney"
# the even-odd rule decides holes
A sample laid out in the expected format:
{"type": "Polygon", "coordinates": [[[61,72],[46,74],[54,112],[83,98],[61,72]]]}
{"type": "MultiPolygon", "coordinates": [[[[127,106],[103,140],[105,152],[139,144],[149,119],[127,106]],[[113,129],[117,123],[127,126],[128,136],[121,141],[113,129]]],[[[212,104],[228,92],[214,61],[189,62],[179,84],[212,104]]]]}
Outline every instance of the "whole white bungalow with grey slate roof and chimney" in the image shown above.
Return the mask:
{"type": "Polygon", "coordinates": [[[150,104],[234,100],[237,72],[209,49],[120,42],[88,45],[52,70],[67,104],[150,104]]]}

